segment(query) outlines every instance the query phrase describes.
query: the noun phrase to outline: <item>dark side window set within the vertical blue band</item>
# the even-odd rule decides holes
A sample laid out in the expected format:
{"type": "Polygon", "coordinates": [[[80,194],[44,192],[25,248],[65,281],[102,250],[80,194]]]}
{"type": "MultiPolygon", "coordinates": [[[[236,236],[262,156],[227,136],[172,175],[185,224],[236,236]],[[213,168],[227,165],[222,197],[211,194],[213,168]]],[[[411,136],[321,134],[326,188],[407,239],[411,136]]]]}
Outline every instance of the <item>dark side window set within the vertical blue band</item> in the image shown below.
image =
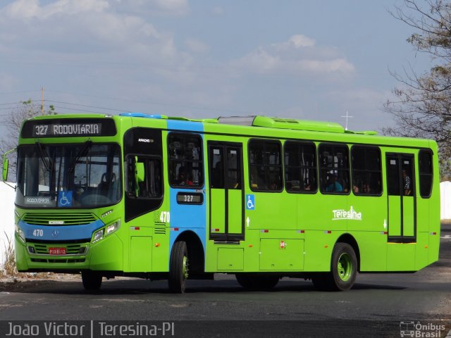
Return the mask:
{"type": "Polygon", "coordinates": [[[171,187],[200,188],[204,185],[202,139],[199,135],[168,136],[168,170],[171,187]]]}

